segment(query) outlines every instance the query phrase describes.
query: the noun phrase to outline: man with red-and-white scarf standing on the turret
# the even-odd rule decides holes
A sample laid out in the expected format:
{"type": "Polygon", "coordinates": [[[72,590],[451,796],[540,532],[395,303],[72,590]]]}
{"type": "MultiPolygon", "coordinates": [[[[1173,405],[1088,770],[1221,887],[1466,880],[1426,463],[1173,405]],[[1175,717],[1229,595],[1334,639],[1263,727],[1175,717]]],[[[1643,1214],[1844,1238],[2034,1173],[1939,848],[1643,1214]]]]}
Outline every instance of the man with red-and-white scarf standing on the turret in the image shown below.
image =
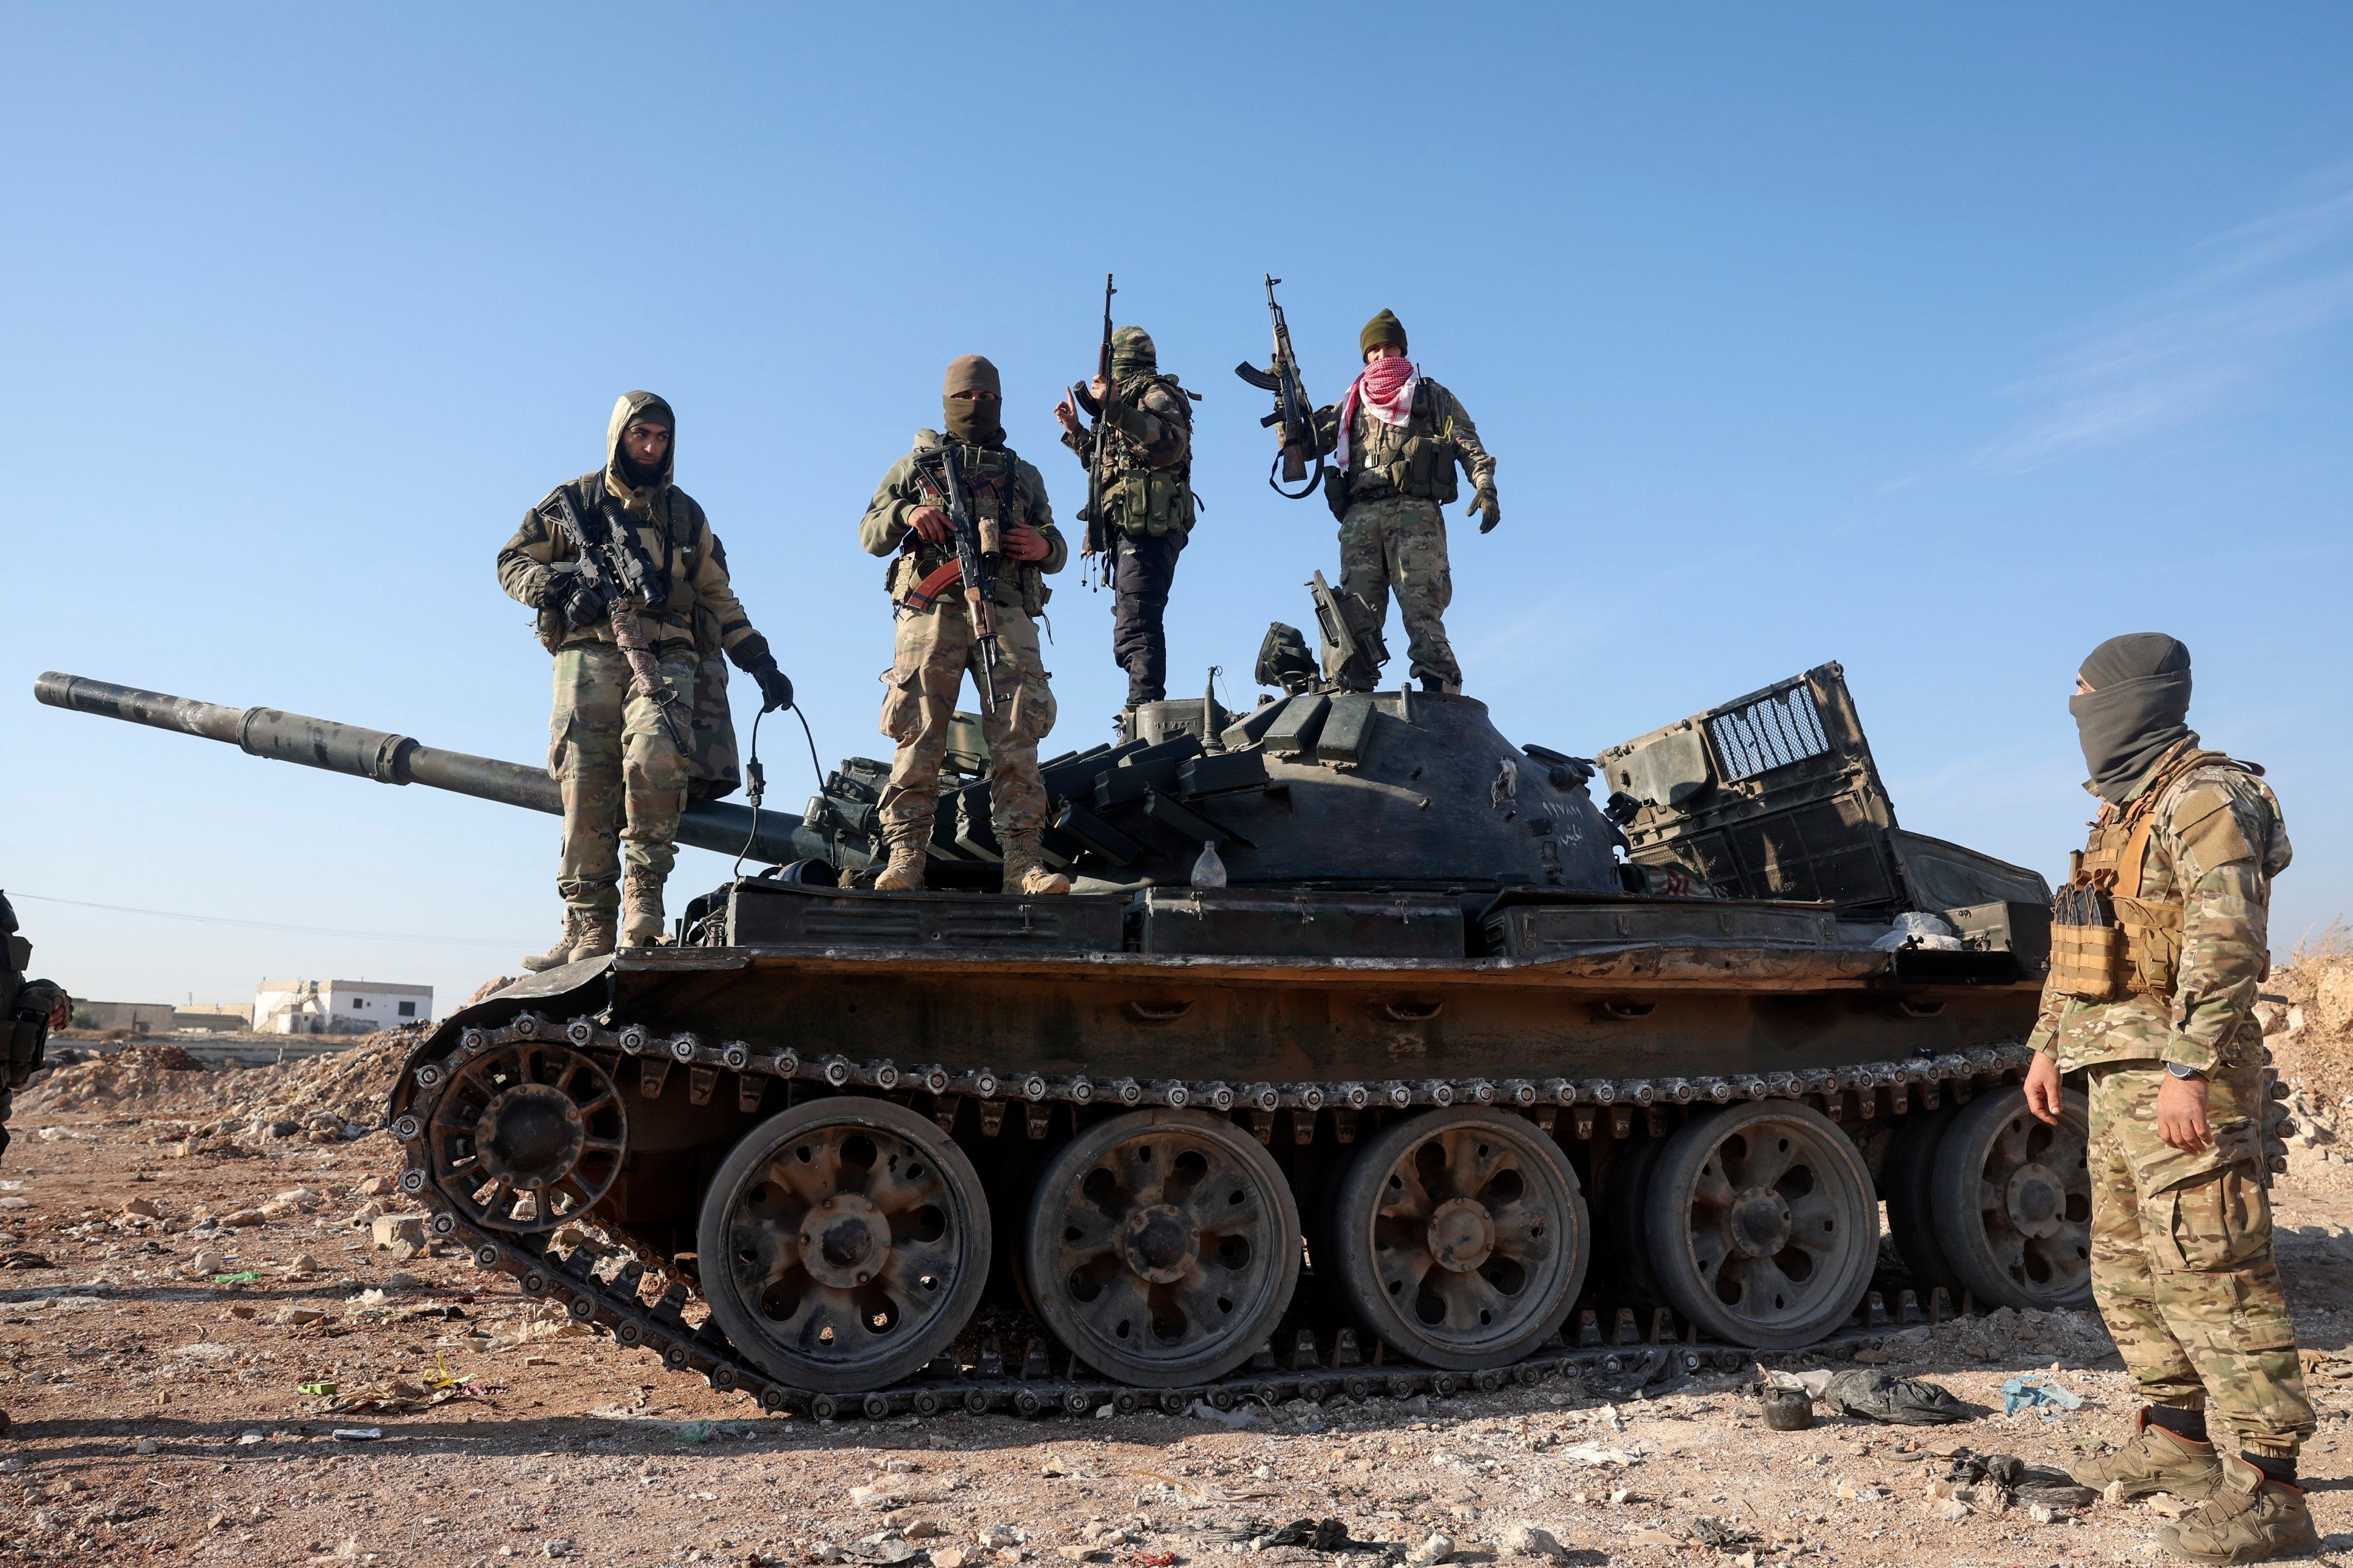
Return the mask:
{"type": "Polygon", "coordinates": [[[1339,602],[1355,632],[1358,661],[1341,670],[1341,684],[1369,691],[1379,679],[1381,623],[1388,592],[1398,592],[1407,654],[1426,691],[1461,691],[1464,670],[1447,642],[1445,609],[1454,599],[1447,567],[1447,520],[1438,510],[1454,501],[1454,465],[1475,489],[1471,515],[1487,534],[1504,520],[1494,498],[1494,458],[1480,447],[1478,425],[1447,388],[1421,376],[1405,357],[1405,327],[1384,310],[1358,334],[1365,374],[1339,404],[1315,411],[1325,451],[1337,456],[1327,498],[1339,522],[1339,602]],[[1377,663],[1379,661],[1379,663],[1377,663]]]}

